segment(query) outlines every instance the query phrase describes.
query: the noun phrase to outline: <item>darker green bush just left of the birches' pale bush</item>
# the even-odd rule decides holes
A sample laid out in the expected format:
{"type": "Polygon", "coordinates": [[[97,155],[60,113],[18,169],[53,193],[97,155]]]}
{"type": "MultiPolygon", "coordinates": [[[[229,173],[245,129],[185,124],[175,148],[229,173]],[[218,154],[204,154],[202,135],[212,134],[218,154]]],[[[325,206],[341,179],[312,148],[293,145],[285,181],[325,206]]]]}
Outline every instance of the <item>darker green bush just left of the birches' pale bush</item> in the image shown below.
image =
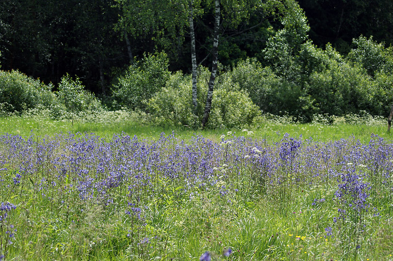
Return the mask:
{"type": "Polygon", "coordinates": [[[131,65],[124,76],[113,86],[113,96],[118,104],[128,108],[146,109],[147,101],[165,86],[169,79],[168,57],[164,52],[144,55],[131,65]]]}

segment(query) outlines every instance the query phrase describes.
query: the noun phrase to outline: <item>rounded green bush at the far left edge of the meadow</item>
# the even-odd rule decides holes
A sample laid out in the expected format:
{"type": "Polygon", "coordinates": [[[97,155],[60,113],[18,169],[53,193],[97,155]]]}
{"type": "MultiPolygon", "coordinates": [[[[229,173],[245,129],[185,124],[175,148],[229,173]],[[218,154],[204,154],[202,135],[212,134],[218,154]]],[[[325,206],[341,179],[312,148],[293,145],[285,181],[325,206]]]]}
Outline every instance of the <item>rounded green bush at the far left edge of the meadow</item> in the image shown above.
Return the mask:
{"type": "Polygon", "coordinates": [[[2,110],[22,112],[37,105],[50,106],[56,101],[52,85],[18,72],[0,71],[0,105],[2,110]]]}

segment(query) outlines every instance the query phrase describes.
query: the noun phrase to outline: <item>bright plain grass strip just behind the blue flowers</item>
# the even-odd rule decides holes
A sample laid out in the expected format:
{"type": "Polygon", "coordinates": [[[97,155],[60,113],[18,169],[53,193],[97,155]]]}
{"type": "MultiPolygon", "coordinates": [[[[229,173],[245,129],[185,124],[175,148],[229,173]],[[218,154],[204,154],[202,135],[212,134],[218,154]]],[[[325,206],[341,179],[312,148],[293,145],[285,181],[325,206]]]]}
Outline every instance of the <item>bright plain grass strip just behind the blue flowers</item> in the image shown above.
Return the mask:
{"type": "MultiPolygon", "coordinates": [[[[303,139],[312,138],[315,141],[333,141],[341,138],[354,137],[362,142],[369,140],[372,133],[378,134],[386,140],[392,140],[392,133],[387,133],[387,126],[384,125],[317,125],[317,124],[274,124],[271,122],[262,123],[256,127],[251,127],[253,138],[267,139],[270,142],[278,142],[283,134],[289,133],[291,136],[302,135],[303,139]]],[[[203,135],[213,141],[219,141],[222,134],[232,131],[236,135],[244,135],[242,129],[218,129],[218,130],[190,130],[176,127],[156,127],[145,126],[137,122],[120,122],[120,123],[86,123],[53,121],[49,119],[28,119],[21,117],[0,118],[0,133],[11,133],[28,137],[31,133],[38,136],[49,135],[60,132],[81,132],[95,133],[104,138],[112,138],[113,134],[127,133],[130,136],[137,135],[138,138],[157,140],[162,132],[167,135],[175,131],[177,137],[188,140],[191,137],[203,135]]]]}

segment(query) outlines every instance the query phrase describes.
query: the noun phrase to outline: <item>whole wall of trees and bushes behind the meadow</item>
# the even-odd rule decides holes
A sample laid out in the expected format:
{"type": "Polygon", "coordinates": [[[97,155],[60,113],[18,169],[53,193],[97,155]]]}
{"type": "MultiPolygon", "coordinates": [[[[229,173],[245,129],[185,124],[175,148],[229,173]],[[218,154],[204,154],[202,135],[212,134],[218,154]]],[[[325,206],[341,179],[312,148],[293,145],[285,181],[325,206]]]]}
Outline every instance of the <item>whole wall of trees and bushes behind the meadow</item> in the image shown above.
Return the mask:
{"type": "Polygon", "coordinates": [[[218,61],[210,128],[261,112],[389,113],[390,1],[216,2],[219,13],[207,0],[1,2],[1,111],[126,107],[199,127],[218,61]]]}

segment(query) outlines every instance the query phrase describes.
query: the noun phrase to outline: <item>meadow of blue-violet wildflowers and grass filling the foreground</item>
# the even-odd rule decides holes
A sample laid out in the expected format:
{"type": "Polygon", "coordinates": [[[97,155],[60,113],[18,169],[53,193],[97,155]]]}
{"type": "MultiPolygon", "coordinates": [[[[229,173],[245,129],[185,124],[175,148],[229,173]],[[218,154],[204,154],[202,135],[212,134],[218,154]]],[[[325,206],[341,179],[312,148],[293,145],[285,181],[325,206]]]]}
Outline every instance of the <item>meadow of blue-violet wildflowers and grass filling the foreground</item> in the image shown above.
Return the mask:
{"type": "Polygon", "coordinates": [[[393,144],[0,136],[0,260],[393,260],[393,144]]]}

